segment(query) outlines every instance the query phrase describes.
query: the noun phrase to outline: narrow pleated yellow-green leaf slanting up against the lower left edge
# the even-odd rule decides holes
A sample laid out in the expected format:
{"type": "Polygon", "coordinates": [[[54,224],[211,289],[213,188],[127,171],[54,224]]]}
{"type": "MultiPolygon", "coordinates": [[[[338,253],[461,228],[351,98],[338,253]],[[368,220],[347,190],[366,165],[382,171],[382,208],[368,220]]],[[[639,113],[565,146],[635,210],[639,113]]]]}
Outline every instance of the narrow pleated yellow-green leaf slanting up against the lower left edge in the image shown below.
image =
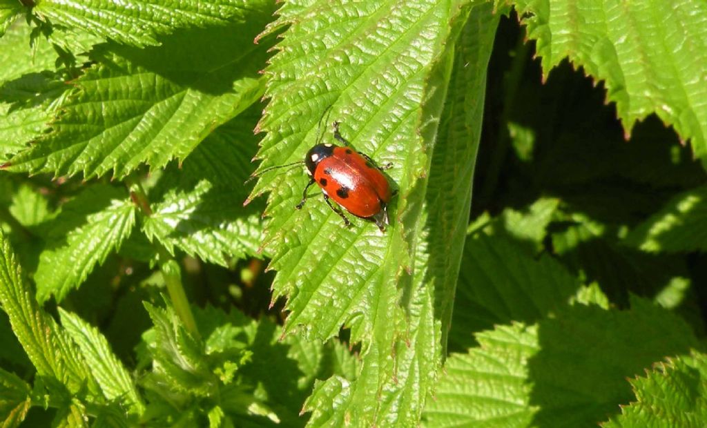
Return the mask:
{"type": "Polygon", "coordinates": [[[88,386],[97,391],[66,332],[42,311],[22,273],[7,238],[0,231],[0,303],[10,318],[37,374],[62,383],[76,393],[88,386]]]}

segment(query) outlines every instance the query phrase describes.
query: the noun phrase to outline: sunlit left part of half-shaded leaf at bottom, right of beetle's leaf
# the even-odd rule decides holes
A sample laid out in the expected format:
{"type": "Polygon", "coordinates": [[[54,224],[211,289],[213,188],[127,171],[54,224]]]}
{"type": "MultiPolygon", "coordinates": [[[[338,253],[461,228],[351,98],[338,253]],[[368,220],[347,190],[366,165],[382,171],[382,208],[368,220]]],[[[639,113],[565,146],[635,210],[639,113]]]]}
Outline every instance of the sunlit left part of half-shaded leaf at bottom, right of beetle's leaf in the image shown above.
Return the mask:
{"type": "Polygon", "coordinates": [[[539,351],[537,326],[499,325],[476,339],[479,347],[447,359],[425,407],[426,426],[530,426],[538,409],[530,403],[527,361],[539,351]]]}

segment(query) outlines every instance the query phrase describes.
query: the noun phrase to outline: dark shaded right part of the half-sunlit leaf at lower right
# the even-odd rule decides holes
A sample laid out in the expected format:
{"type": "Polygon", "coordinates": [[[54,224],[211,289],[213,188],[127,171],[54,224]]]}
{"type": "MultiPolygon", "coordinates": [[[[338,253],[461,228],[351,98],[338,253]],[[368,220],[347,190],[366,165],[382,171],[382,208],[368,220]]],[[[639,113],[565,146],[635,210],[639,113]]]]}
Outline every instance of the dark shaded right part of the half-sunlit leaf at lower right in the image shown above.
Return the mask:
{"type": "Polygon", "coordinates": [[[597,427],[636,400],[628,378],[698,343],[669,311],[643,302],[631,311],[575,305],[539,323],[539,352],[528,361],[537,427],[597,427]]]}

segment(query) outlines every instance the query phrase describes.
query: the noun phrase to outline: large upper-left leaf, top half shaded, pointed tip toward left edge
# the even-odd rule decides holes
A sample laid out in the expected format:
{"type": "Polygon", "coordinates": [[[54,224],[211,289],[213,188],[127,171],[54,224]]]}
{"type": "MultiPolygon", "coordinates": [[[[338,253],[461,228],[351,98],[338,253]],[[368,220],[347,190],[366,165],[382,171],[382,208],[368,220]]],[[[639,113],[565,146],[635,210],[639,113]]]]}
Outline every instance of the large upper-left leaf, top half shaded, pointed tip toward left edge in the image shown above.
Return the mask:
{"type": "Polygon", "coordinates": [[[160,47],[103,46],[73,83],[52,132],[11,159],[8,170],[127,175],[142,163],[183,160],[214,128],[254,104],[267,47],[252,37],[271,4],[252,4],[248,22],[185,30],[160,47]]]}

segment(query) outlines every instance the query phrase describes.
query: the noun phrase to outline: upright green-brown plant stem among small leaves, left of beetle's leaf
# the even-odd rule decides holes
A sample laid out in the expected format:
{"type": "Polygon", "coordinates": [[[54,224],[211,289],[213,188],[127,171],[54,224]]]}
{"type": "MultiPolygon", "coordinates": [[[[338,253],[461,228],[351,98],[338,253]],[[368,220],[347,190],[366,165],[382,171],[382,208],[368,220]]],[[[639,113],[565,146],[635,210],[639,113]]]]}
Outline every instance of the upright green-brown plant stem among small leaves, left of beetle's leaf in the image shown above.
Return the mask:
{"type": "MultiPolygon", "coordinates": [[[[130,191],[130,197],[140,209],[142,214],[146,217],[151,216],[152,209],[150,208],[150,202],[140,183],[140,180],[134,176],[129,176],[126,178],[125,183],[130,191]]],[[[189,300],[187,299],[187,294],[185,293],[184,286],[182,285],[182,270],[179,263],[175,260],[173,255],[169,253],[164,245],[155,241],[153,241],[152,244],[157,250],[160,271],[162,272],[162,277],[165,279],[167,292],[170,295],[170,299],[177,316],[180,317],[182,323],[185,325],[185,328],[187,328],[187,330],[192,333],[194,337],[200,337],[197,322],[194,320],[192,309],[189,308],[189,300]]]]}

